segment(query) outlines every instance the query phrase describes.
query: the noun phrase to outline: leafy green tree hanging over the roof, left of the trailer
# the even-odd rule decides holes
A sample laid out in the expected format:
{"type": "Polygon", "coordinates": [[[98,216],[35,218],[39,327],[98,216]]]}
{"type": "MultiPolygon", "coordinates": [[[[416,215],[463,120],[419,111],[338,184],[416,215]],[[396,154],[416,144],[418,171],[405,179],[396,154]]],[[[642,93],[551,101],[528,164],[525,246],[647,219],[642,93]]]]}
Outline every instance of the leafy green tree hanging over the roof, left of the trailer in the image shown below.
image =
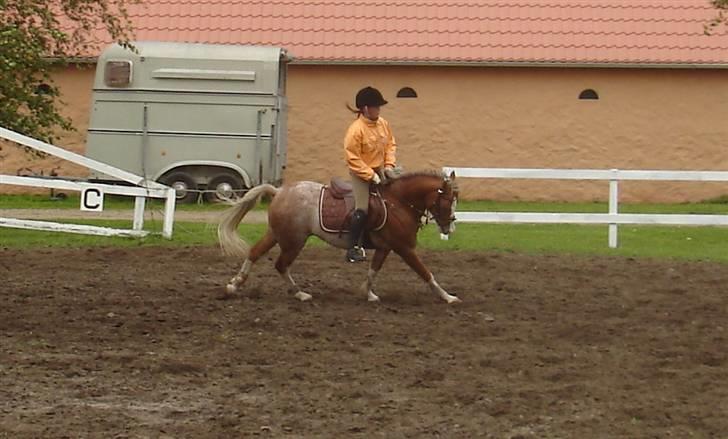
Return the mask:
{"type": "Polygon", "coordinates": [[[92,47],[98,28],[128,46],[127,6],[137,1],[0,0],[0,126],[49,142],[73,130],[52,69],[92,47]]]}

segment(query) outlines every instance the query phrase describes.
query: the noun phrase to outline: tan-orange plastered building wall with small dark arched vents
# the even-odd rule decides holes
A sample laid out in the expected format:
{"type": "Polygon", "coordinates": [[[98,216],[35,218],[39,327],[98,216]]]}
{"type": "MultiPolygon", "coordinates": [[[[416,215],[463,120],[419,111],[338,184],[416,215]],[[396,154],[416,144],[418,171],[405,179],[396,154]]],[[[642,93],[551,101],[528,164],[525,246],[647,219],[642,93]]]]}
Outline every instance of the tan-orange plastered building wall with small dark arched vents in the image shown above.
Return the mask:
{"type": "MultiPolygon", "coordinates": [[[[92,71],[70,69],[57,79],[78,127],[59,143],[82,152],[92,71]]],[[[728,71],[292,65],[286,180],[346,175],[342,142],[353,116],[345,105],[366,85],[390,101],[382,116],[397,137],[399,162],[409,170],[728,169],[728,71]],[[418,97],[396,98],[405,86],[418,97]],[[579,100],[587,88],[600,99],[579,100]]],[[[6,154],[3,172],[20,167],[16,157],[6,154]]],[[[35,161],[31,167],[52,165],[35,161]]],[[[461,187],[470,199],[590,201],[606,200],[608,193],[606,182],[463,180],[461,187]]],[[[626,182],[620,188],[624,201],[728,194],[720,183],[626,182]]]]}

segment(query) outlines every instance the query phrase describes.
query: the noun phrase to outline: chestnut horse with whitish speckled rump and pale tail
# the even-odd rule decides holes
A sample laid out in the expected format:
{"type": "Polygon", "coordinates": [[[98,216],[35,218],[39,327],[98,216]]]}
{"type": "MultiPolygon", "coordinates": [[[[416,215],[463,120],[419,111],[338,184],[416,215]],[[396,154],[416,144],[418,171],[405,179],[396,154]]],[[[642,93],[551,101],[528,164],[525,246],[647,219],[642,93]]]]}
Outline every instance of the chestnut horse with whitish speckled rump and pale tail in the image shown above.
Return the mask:
{"type": "MultiPolygon", "coordinates": [[[[233,294],[243,285],[253,264],[277,244],[280,255],[275,262],[275,268],[288,282],[289,294],[294,293],[294,297],[301,301],[312,298],[311,294],[298,288],[290,273],[290,266],[305,246],[306,240],[315,235],[334,247],[347,248],[347,233],[336,233],[322,228],[319,203],[324,187],[313,181],[299,181],[281,188],[262,184],[251,188],[239,200],[228,202],[232,207],[221,216],[217,230],[218,241],[224,254],[240,257],[244,262],[240,271],[227,284],[227,294],[233,294]],[[268,207],[268,229],[251,249],[238,235],[237,227],[263,196],[272,197],[268,207]]],[[[456,295],[448,293],[437,283],[432,272],[415,253],[417,232],[423,225],[423,219],[434,218],[443,234],[447,235],[453,230],[458,197],[455,173],[449,176],[438,171],[403,173],[396,179],[372,185],[370,192],[370,203],[372,199],[380,198],[386,214],[385,221],[378,230],[372,230],[371,224],[367,224],[370,242],[368,247],[375,249],[367,279],[362,285],[367,300],[379,301],[379,296],[374,291],[375,279],[387,256],[394,251],[432,292],[448,304],[460,302],[456,295]]],[[[375,215],[372,215],[371,210],[370,208],[369,216],[373,217],[375,215]]],[[[349,262],[344,262],[342,257],[342,263],[349,262]]]]}

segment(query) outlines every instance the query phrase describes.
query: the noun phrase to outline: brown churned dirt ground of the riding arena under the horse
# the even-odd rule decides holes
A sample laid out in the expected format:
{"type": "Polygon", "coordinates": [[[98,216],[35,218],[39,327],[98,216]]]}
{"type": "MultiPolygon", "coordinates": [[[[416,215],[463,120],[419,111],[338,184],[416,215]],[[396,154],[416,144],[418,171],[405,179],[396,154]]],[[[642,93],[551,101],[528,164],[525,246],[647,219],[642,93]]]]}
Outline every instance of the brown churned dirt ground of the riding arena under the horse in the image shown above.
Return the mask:
{"type": "Polygon", "coordinates": [[[725,438],[728,266],[312,248],[0,250],[0,437],[725,438]],[[273,254],[272,256],[275,256],[273,254]]]}

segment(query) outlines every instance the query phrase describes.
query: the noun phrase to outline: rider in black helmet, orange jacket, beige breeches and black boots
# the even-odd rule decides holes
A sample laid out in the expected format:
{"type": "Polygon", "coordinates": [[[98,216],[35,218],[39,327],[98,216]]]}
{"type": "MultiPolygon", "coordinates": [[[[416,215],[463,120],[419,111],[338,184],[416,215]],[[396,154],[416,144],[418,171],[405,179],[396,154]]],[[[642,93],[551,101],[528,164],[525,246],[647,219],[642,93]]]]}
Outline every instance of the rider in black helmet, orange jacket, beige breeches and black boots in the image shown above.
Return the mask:
{"type": "Polygon", "coordinates": [[[369,188],[380,184],[385,177],[395,176],[397,144],[389,123],[379,117],[380,108],[387,103],[376,88],[364,87],[356,94],[356,120],[349,126],[344,139],[346,163],[354,189],[355,210],[351,217],[349,249],[346,260],[366,260],[359,247],[367,222],[369,188]]]}

